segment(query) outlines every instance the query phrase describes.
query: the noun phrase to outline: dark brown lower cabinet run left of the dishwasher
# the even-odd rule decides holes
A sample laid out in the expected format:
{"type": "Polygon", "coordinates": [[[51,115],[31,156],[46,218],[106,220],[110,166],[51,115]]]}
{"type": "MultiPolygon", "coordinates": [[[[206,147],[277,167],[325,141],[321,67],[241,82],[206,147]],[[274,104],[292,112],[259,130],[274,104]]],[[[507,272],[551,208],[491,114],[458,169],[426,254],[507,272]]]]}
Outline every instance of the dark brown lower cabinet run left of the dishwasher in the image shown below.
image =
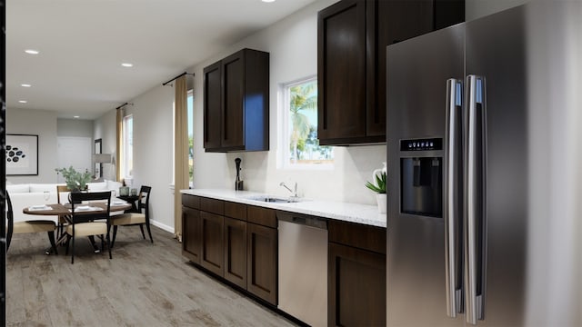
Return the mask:
{"type": "Polygon", "coordinates": [[[276,305],[275,210],[186,194],[182,204],[183,255],[276,305]]]}

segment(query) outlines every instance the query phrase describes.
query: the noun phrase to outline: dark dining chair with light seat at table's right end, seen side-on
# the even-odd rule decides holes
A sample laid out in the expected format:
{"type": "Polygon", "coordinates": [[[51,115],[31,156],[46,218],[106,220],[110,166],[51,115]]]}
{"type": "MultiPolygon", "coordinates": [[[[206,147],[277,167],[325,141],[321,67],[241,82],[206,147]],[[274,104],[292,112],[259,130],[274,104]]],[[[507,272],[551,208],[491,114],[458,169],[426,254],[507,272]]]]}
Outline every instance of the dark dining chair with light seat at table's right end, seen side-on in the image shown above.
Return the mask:
{"type": "Polygon", "coordinates": [[[149,195],[152,193],[150,186],[144,186],[139,189],[139,197],[137,199],[137,213],[122,213],[111,217],[111,225],[113,226],[113,238],[111,240],[111,247],[115,244],[115,236],[117,235],[118,226],[139,225],[142,231],[142,237],[146,240],[144,233],[144,224],[149,234],[149,239],[154,243],[152,238],[152,231],[149,227],[149,195]]]}

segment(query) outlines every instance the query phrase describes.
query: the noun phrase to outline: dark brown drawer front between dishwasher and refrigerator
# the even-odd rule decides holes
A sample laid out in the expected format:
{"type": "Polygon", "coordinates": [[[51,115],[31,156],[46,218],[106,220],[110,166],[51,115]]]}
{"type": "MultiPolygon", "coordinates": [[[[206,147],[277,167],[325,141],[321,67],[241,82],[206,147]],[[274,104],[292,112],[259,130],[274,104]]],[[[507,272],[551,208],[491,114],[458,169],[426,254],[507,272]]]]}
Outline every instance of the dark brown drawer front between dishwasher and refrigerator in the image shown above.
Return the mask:
{"type": "Polygon", "coordinates": [[[386,254],[386,228],[329,220],[329,242],[386,254]]]}

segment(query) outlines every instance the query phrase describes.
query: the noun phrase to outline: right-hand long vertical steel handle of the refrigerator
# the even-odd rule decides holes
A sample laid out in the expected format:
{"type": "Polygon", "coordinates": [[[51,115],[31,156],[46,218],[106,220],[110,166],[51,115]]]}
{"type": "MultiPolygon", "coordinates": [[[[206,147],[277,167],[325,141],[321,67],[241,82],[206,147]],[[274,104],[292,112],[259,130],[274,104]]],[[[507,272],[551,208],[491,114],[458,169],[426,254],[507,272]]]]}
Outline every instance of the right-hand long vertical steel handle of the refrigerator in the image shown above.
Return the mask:
{"type": "Polygon", "coordinates": [[[487,107],[485,78],[467,76],[465,189],[466,321],[485,319],[487,224],[487,107]]]}

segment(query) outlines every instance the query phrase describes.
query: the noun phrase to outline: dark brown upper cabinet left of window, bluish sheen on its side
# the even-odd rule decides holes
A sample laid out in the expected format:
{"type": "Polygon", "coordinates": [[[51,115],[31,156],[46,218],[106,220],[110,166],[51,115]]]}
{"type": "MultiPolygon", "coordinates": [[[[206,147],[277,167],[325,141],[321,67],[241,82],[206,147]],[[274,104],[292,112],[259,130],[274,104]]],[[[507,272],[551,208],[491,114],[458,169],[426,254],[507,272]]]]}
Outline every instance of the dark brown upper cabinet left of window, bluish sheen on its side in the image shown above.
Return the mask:
{"type": "Polygon", "coordinates": [[[206,152],[269,149],[269,54],[243,49],[204,69],[206,152]]]}

